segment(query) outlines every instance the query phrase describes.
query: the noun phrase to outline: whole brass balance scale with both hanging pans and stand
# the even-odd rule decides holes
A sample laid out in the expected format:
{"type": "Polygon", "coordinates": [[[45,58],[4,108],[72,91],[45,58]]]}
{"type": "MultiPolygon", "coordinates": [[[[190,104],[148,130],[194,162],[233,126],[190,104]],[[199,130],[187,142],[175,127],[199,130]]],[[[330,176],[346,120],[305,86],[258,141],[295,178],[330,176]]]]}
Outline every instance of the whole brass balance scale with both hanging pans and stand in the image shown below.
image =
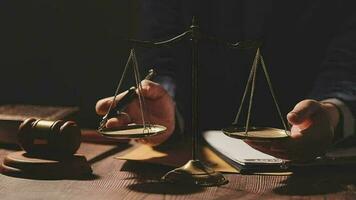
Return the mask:
{"type": "MultiPolygon", "coordinates": [[[[128,41],[133,45],[130,51],[130,55],[126,62],[126,66],[122,73],[121,79],[118,83],[115,95],[113,97],[112,103],[107,111],[107,114],[103,117],[98,131],[105,137],[118,138],[118,139],[141,139],[146,137],[151,137],[158,134],[164,134],[166,127],[151,123],[150,119],[146,118],[146,113],[148,111],[146,107],[145,98],[142,95],[142,85],[141,77],[138,67],[138,62],[135,54],[134,47],[144,47],[144,48],[161,48],[172,46],[173,44],[183,40],[189,39],[191,42],[192,50],[192,129],[191,129],[191,139],[192,139],[192,157],[185,165],[176,168],[162,177],[163,181],[170,183],[183,183],[183,184],[193,184],[198,186],[219,186],[228,183],[228,180],[217,171],[214,171],[210,167],[206,166],[197,157],[198,152],[198,43],[200,40],[208,40],[210,42],[215,42],[232,49],[256,49],[256,55],[254,57],[252,67],[249,73],[249,77],[246,83],[246,87],[242,96],[242,100],[236,115],[235,120],[232,122],[230,127],[222,129],[223,133],[227,136],[243,139],[243,140],[280,140],[290,136],[289,124],[285,123],[281,110],[279,108],[276,95],[273,91],[271,80],[267,71],[267,67],[263,60],[260,47],[261,42],[259,41],[241,41],[236,43],[229,43],[218,38],[203,35],[200,32],[199,26],[195,18],[193,17],[192,24],[189,29],[182,34],[179,34],[171,39],[159,42],[152,41],[139,41],[129,39],[128,41]],[[271,127],[257,127],[250,125],[251,108],[255,90],[256,82],[256,72],[259,66],[262,66],[268,88],[270,90],[271,96],[273,98],[276,110],[283,124],[284,129],[271,128],[271,127]],[[127,74],[129,66],[133,66],[133,74],[135,77],[135,87],[131,87],[126,95],[119,101],[115,102],[117,95],[121,89],[124,77],[127,74]],[[250,93],[249,93],[250,91],[250,93]],[[248,94],[249,93],[249,94],[248,94]],[[249,95],[248,111],[246,117],[246,123],[244,126],[239,126],[239,119],[244,102],[249,95]],[[126,106],[134,99],[138,98],[140,106],[140,114],[142,124],[129,124],[127,126],[117,127],[117,128],[106,128],[105,124],[109,118],[123,114],[126,106]]],[[[145,79],[150,80],[154,76],[155,72],[150,70],[145,79]]]]}

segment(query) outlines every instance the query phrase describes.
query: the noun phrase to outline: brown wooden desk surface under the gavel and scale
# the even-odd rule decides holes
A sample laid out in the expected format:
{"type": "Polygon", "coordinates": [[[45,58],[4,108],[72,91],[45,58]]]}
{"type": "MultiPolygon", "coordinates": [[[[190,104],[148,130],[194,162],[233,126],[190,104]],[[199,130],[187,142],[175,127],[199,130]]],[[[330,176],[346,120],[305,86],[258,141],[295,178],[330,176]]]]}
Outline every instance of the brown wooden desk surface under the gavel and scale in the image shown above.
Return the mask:
{"type": "MultiPolygon", "coordinates": [[[[0,175],[0,199],[356,199],[356,169],[315,170],[293,176],[227,174],[221,187],[160,183],[170,168],[113,157],[128,145],[83,143],[92,165],[88,180],[31,180],[0,175]]],[[[0,146],[0,159],[13,150],[0,146]]]]}

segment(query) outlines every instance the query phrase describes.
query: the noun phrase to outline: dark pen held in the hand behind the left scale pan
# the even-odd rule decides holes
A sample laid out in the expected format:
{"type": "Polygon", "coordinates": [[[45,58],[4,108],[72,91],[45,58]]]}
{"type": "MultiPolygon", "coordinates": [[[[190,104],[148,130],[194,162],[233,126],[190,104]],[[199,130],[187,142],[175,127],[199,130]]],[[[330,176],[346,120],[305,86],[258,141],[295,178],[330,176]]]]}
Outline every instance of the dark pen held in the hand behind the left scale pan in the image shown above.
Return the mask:
{"type": "MultiPolygon", "coordinates": [[[[155,74],[156,74],[155,71],[153,69],[150,69],[147,76],[144,78],[144,80],[151,80],[155,74]]],[[[127,93],[122,97],[122,99],[119,102],[117,102],[117,105],[115,107],[110,106],[108,112],[101,120],[98,130],[99,131],[102,130],[105,127],[106,122],[110,118],[120,114],[127,107],[127,105],[135,99],[136,95],[137,95],[136,87],[131,87],[127,91],[127,93]]]]}

